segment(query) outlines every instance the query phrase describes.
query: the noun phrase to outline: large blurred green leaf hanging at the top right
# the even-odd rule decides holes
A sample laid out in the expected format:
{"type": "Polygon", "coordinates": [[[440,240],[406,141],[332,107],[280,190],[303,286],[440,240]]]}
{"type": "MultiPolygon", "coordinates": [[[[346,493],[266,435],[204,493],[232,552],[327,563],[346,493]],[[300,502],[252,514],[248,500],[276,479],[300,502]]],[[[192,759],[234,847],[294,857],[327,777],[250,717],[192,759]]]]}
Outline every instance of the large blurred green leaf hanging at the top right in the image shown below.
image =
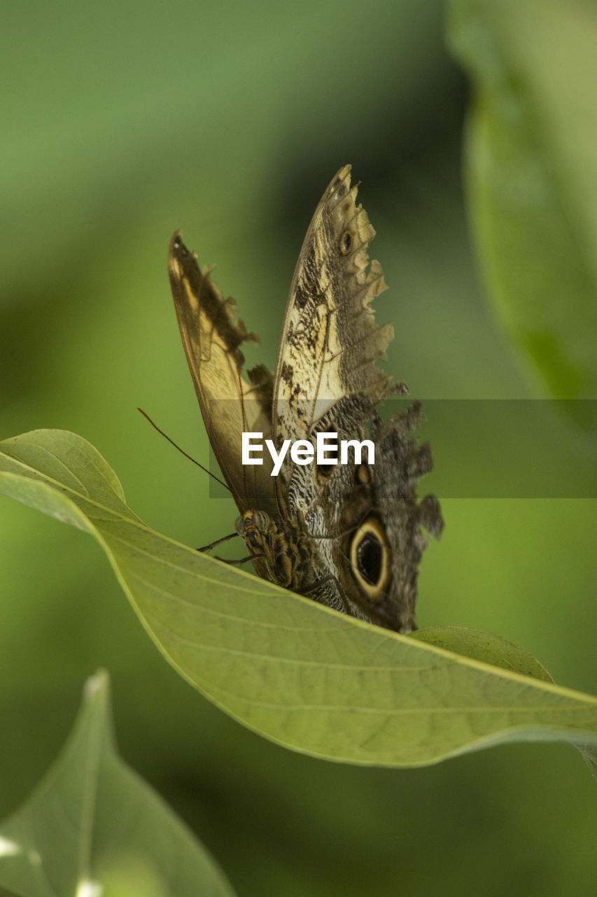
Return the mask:
{"type": "MultiPolygon", "coordinates": [[[[577,0],[453,0],[470,74],[465,178],[489,293],[551,396],[597,395],[597,15],[577,0]]],[[[585,428],[587,405],[570,405],[585,428]]]]}

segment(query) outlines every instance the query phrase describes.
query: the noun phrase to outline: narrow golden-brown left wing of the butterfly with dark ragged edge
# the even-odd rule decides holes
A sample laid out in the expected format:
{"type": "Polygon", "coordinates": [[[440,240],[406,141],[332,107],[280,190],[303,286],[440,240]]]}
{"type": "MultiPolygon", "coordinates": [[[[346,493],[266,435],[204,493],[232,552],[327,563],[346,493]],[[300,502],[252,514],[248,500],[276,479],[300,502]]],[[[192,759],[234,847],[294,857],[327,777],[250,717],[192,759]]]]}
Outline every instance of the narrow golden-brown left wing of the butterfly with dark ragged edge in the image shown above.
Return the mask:
{"type": "Polygon", "coordinates": [[[258,342],[241,320],[236,303],[224,299],[179,232],[170,240],[168,268],[178,327],[199,399],[205,429],[238,509],[275,512],[273,477],[264,465],[242,465],[241,433],[271,432],[272,375],[263,366],[241,377],[242,343],[258,342]]]}

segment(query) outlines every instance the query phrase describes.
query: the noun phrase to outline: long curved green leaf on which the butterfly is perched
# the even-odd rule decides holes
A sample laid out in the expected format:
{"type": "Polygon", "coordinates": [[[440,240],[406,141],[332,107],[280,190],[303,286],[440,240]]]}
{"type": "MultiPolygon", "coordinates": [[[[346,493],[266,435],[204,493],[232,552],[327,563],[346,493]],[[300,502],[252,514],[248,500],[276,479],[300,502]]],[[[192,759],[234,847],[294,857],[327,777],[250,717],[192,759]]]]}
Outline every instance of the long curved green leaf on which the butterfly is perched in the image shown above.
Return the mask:
{"type": "Polygon", "coordinates": [[[152,532],[116,487],[108,501],[95,494],[94,485],[105,490],[116,478],[72,433],[36,431],[2,448],[7,491],[77,526],[84,514],[169,663],[281,745],[330,760],[419,766],[508,741],[597,744],[590,695],[492,666],[479,645],[467,658],[378,629],[152,532]],[[31,445],[42,459],[39,448],[48,447],[48,471],[25,463],[31,445]]]}

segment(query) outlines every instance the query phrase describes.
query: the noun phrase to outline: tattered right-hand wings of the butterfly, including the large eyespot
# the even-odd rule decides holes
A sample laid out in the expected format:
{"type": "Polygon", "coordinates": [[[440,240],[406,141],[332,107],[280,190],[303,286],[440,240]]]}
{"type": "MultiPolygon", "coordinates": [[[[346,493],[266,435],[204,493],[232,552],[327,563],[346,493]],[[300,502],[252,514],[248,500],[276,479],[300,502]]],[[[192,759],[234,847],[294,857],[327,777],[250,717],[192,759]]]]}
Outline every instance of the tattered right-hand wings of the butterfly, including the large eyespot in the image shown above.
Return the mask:
{"type": "MultiPolygon", "coordinates": [[[[278,492],[299,512],[316,546],[310,597],[397,631],[414,627],[421,553],[439,536],[437,501],[417,501],[416,484],[431,469],[428,445],[409,431],[418,405],[383,427],[377,403],[388,378],[376,367],[393,338],[377,327],[371,301],[385,290],[378,262],[368,266],[375,231],[356,205],[350,166],[327,187],[307,231],[286,309],[274,383],[274,440],[313,440],[316,431],[375,442],[375,466],[288,466],[278,492]],[[368,433],[370,430],[370,433],[368,433]]],[[[401,385],[397,390],[405,392],[401,385]]]]}

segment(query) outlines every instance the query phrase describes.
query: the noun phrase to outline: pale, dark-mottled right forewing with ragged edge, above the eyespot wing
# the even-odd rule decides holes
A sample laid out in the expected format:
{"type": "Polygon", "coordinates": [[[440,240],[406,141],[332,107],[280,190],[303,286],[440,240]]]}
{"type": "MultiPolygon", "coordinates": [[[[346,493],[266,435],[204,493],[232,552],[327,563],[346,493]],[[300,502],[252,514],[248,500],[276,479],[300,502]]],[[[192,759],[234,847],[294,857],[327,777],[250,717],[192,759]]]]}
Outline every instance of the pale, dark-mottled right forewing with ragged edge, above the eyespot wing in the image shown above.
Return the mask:
{"type": "Polygon", "coordinates": [[[346,165],[327,187],[300,252],[273,390],[278,441],[308,439],[342,396],[376,401],[388,382],[376,359],[385,357],[394,330],[377,327],[370,308],[385,282],[377,261],[368,268],[375,231],[356,196],[346,165]]]}

